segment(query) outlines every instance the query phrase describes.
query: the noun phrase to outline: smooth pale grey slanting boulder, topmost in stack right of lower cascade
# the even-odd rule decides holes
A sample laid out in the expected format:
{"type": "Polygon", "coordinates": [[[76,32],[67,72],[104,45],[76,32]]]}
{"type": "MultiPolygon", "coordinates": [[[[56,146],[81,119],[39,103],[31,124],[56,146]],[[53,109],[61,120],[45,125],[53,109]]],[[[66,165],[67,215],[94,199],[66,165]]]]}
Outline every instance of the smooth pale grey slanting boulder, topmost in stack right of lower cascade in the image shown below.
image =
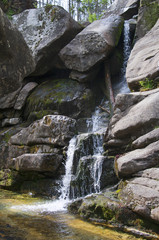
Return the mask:
{"type": "Polygon", "coordinates": [[[153,128],[153,125],[155,127],[159,120],[159,92],[150,94],[123,114],[118,114],[117,120],[113,122],[109,131],[112,137],[124,138],[137,134],[140,136],[141,131],[146,133],[148,128],[153,128]]]}

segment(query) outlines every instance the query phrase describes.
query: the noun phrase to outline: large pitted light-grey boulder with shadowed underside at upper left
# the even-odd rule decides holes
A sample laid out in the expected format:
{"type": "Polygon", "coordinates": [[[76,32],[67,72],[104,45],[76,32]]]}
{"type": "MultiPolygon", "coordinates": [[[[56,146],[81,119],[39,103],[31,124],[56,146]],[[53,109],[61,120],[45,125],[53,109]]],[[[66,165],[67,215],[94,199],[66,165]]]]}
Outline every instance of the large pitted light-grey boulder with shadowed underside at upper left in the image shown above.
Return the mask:
{"type": "Polygon", "coordinates": [[[50,5],[15,15],[13,23],[33,52],[36,69],[32,75],[58,67],[58,52],[82,29],[62,7],[50,5]]]}

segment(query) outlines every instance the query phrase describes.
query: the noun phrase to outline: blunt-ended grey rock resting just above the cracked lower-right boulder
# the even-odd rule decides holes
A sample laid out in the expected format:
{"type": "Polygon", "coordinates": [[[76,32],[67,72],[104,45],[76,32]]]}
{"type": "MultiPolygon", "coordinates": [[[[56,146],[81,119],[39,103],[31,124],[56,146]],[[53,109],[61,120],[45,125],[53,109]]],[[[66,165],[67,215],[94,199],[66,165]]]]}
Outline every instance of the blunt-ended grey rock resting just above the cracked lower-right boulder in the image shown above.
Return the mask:
{"type": "Polygon", "coordinates": [[[159,163],[159,141],[151,143],[144,149],[126,153],[116,160],[116,170],[119,177],[130,177],[141,170],[155,167],[159,163]]]}

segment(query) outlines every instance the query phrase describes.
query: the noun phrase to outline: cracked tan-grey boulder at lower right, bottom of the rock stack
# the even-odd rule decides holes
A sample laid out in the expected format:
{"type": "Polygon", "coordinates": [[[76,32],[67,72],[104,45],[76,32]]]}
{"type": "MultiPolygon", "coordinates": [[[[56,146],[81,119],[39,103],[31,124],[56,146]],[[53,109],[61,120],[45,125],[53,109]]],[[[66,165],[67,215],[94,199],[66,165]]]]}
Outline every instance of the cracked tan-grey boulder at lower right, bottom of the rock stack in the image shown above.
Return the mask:
{"type": "Polygon", "coordinates": [[[127,181],[120,198],[134,212],[159,223],[159,168],[149,168],[127,181]]]}

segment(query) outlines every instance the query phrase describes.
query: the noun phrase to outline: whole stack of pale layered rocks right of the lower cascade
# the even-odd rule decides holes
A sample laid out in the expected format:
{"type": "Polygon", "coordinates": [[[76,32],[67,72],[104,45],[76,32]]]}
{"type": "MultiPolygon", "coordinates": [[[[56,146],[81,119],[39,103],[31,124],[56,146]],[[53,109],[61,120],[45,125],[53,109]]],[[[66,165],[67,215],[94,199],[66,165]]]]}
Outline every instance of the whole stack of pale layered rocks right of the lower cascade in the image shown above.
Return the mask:
{"type": "Polygon", "coordinates": [[[120,179],[125,179],[119,194],[121,203],[157,223],[158,98],[158,89],[118,95],[105,145],[108,152],[116,155],[116,174],[120,179]]]}

